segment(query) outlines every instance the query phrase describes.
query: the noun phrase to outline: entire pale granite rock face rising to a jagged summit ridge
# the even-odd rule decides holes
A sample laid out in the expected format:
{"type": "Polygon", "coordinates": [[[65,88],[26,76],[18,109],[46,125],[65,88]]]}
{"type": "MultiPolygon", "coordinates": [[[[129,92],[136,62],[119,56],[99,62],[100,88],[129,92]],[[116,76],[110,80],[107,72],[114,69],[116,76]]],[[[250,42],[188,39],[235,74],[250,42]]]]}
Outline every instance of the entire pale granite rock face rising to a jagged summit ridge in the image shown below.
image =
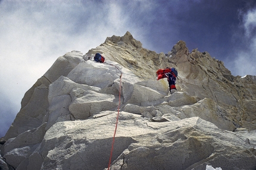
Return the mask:
{"type": "Polygon", "coordinates": [[[184,41],[157,54],[129,32],[107,37],[59,57],[26,92],[0,169],[108,169],[118,113],[111,169],[256,169],[255,97],[255,76],[184,41]],[[155,78],[166,67],[179,72],[171,95],[155,78]]]}

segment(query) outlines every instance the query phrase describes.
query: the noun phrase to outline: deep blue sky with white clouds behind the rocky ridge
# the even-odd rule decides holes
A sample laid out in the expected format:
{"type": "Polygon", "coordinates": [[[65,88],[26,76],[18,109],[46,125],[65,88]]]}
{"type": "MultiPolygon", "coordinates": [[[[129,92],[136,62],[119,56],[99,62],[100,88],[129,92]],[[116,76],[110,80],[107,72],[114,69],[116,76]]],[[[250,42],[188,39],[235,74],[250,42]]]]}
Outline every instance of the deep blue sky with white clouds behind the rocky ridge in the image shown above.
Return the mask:
{"type": "Polygon", "coordinates": [[[126,31],[148,50],[168,53],[183,40],[234,76],[256,75],[255,0],[0,0],[0,137],[59,56],[126,31]]]}

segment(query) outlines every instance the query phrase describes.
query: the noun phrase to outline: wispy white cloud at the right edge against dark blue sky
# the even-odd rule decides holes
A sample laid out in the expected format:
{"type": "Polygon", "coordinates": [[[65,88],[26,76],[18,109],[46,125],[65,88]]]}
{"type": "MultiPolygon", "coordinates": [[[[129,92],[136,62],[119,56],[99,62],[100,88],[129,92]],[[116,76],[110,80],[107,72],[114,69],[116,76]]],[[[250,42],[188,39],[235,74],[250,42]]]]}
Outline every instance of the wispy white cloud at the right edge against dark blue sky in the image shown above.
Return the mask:
{"type": "Polygon", "coordinates": [[[246,12],[239,11],[239,17],[242,21],[234,37],[240,42],[240,46],[236,46],[237,49],[225,63],[235,76],[256,75],[256,8],[246,12]]]}

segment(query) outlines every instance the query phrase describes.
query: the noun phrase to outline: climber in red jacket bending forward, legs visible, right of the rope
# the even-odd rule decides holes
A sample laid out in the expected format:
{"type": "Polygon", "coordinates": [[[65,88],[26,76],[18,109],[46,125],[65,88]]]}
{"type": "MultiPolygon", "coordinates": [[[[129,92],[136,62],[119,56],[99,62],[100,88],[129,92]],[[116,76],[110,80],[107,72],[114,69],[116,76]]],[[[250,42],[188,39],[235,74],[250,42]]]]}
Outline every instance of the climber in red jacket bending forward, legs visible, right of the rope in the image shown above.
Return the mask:
{"type": "Polygon", "coordinates": [[[176,89],[176,78],[178,76],[178,72],[175,68],[166,68],[157,70],[157,80],[167,78],[168,84],[170,87],[170,93],[173,94],[176,89]]]}

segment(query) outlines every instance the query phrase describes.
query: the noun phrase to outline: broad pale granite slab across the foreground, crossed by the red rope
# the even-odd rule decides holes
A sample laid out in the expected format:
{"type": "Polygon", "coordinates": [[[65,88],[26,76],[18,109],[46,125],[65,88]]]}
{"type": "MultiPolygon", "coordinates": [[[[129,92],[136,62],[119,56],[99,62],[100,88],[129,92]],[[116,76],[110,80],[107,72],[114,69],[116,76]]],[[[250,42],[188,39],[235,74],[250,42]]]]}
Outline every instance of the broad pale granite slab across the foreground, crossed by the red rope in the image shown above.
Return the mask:
{"type": "MultiPolygon", "coordinates": [[[[107,169],[116,114],[55,123],[29,156],[27,165],[21,163],[22,167],[107,169]]],[[[121,112],[112,168],[204,169],[213,165],[252,169],[256,164],[251,146],[238,134],[221,130],[199,117],[150,122],[138,114],[121,112]]]]}

